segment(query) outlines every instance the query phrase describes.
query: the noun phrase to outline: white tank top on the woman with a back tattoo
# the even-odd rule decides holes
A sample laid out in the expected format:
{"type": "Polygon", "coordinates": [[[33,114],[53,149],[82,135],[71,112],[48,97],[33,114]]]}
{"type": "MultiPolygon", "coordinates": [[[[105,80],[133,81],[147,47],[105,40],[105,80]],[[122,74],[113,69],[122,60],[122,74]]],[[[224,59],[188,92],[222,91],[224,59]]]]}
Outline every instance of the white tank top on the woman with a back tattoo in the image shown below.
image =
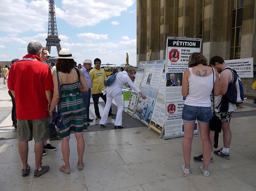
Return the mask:
{"type": "Polygon", "coordinates": [[[211,107],[210,94],[216,80],[215,70],[209,76],[197,76],[193,73],[193,67],[189,68],[188,94],[185,100],[186,105],[211,107]],[[214,75],[214,76],[213,76],[214,75]]]}

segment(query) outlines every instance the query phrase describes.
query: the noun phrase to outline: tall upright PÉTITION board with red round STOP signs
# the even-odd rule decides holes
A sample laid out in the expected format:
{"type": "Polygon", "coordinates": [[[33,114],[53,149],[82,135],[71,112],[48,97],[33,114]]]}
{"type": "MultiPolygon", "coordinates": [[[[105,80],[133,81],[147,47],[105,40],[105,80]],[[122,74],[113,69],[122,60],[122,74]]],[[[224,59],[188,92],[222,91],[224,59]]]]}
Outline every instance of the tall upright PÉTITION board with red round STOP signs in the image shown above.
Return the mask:
{"type": "MultiPolygon", "coordinates": [[[[201,39],[167,37],[165,65],[165,122],[164,138],[184,136],[182,109],[184,98],[181,94],[183,72],[188,67],[188,58],[200,52],[201,39]]],[[[197,124],[195,125],[196,134],[197,124]]]]}

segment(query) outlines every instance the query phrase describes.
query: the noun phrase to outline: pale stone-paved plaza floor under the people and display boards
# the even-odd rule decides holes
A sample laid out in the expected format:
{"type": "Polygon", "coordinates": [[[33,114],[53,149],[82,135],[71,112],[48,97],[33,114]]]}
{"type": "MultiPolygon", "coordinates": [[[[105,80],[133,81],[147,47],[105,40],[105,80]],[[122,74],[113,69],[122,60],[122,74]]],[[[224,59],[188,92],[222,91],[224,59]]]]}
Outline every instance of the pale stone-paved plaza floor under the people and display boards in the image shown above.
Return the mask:
{"type": "MultiPolygon", "coordinates": [[[[106,129],[93,121],[88,132],[84,152],[85,166],[77,170],[76,139],[70,139],[71,174],[59,171],[63,164],[61,140],[50,141],[57,151],[47,151],[42,164],[49,165],[48,173],[33,177],[34,142],[29,142],[28,177],[21,176],[16,132],[11,121],[11,99],[3,78],[0,79],[0,190],[256,190],[256,104],[245,100],[231,119],[232,140],[230,160],[213,155],[210,176],[199,170],[201,163],[193,156],[201,154],[200,134],[195,136],[191,153],[191,174],[184,175],[181,166],[182,137],[164,140],[153,130],[127,114],[123,114],[124,129],[114,130],[114,119],[109,117],[106,129]]],[[[101,102],[102,103],[102,102],[101,102]]],[[[33,101],[31,100],[31,104],[33,101]]],[[[104,104],[100,106],[103,111],[104,104]]],[[[116,111],[115,106],[113,107],[116,111]]],[[[90,118],[95,118],[93,103],[90,118]]],[[[222,133],[219,148],[223,146],[222,133]]]]}

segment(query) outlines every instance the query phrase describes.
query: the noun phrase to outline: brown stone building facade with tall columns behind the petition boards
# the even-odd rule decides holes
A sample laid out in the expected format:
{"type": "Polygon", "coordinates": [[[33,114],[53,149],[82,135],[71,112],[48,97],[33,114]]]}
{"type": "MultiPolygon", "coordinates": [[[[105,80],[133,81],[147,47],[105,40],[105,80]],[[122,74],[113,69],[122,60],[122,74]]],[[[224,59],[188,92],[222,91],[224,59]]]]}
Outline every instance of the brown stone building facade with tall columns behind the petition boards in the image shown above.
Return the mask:
{"type": "MultiPolygon", "coordinates": [[[[207,60],[254,57],[255,68],[255,0],[137,0],[137,65],[149,49],[152,60],[165,59],[167,36],[202,38],[207,60]]],[[[256,95],[254,81],[243,79],[247,96],[256,95]]]]}

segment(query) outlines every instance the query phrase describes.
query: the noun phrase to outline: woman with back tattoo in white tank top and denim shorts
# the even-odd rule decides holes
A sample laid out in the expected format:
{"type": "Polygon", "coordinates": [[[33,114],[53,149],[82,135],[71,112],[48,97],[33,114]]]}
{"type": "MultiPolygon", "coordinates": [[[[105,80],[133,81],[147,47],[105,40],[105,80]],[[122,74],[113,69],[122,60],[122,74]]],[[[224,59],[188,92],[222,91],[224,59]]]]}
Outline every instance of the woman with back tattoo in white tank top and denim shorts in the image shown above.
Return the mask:
{"type": "Polygon", "coordinates": [[[210,94],[214,88],[215,96],[220,94],[219,75],[217,70],[207,66],[207,60],[201,53],[193,53],[189,57],[188,68],[184,71],[182,96],[186,97],[182,110],[184,124],[183,138],[183,173],[190,174],[191,142],[196,120],[199,124],[203,143],[203,165],[200,166],[204,176],[209,176],[208,169],[211,156],[209,138],[209,122],[212,117],[210,94]]]}

